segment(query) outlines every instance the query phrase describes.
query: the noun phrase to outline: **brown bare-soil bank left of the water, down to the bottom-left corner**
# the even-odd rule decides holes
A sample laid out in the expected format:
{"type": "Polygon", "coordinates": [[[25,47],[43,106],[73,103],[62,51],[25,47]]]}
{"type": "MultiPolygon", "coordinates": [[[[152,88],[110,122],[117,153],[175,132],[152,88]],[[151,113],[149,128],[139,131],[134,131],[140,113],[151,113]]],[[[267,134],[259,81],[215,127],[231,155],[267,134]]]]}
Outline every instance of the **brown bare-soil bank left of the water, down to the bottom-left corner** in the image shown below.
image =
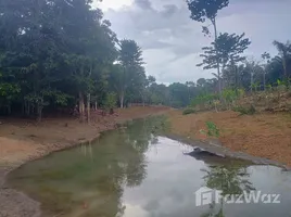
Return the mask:
{"type": "Polygon", "coordinates": [[[4,177],[25,162],[53,151],[90,141],[100,132],[116,128],[118,123],[162,114],[167,107],[130,107],[117,110],[114,115],[92,115],[91,123],[72,118],[33,120],[0,119],[0,217],[37,217],[39,204],[26,195],[4,188],[4,177]]]}

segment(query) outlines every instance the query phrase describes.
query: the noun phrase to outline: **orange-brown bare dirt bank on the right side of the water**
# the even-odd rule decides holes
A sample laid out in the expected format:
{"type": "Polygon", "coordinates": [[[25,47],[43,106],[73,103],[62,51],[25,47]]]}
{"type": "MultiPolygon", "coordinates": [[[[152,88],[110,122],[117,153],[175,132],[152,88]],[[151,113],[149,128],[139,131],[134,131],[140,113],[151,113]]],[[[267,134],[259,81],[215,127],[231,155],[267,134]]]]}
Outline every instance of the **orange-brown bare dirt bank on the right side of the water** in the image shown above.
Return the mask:
{"type": "Polygon", "coordinates": [[[207,140],[201,130],[206,130],[205,122],[213,122],[219,129],[219,140],[224,146],[291,167],[291,114],[205,112],[182,115],[181,111],[170,111],[168,116],[173,133],[207,140]]]}

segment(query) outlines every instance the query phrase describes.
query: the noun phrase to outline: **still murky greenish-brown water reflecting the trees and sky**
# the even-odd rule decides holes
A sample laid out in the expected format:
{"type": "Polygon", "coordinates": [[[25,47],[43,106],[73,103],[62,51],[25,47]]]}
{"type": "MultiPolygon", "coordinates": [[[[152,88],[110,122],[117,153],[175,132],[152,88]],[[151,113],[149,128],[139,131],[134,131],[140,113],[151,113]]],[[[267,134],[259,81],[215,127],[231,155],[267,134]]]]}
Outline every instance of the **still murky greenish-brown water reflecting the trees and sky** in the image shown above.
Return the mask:
{"type": "Polygon", "coordinates": [[[214,156],[192,157],[186,153],[193,148],[159,136],[164,127],[161,118],[135,122],[91,144],[28,163],[13,171],[8,183],[40,201],[46,217],[291,216],[289,173],[214,156]],[[211,204],[197,206],[207,202],[207,194],[194,193],[201,187],[223,195],[280,194],[280,203],[268,203],[274,195],[250,204],[212,195],[211,204]]]}

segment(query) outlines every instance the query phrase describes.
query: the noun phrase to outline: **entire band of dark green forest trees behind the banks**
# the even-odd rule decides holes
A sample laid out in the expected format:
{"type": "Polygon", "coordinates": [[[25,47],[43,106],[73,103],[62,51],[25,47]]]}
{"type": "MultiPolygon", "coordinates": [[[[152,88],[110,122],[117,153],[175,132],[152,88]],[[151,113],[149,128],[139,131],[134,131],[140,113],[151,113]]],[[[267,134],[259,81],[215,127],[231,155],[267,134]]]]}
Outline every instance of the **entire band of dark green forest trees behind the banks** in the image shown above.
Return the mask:
{"type": "MultiPolygon", "coordinates": [[[[191,18],[210,22],[202,34],[213,42],[202,48],[198,67],[217,71],[165,86],[147,76],[142,49],[118,39],[92,0],[0,1],[0,113],[36,117],[112,111],[130,103],[187,106],[201,95],[271,90],[291,77],[291,44],[274,41],[278,55],[243,55],[251,44],[244,33],[219,33],[216,17],[228,0],[187,0],[191,18]],[[208,27],[213,26],[212,29],[208,27]],[[213,36],[214,35],[214,36],[213,36]]],[[[178,73],[178,72],[177,72],[178,73]]]]}

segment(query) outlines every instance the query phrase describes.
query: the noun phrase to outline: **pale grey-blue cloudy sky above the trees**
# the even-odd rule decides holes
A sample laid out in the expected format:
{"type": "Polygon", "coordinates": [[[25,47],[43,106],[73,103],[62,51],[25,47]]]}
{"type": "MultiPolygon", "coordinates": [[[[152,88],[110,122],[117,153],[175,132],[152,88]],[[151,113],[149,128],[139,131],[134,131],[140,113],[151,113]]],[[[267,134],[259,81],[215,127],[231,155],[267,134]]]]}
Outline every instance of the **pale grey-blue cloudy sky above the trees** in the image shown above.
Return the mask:
{"type": "MultiPolygon", "coordinates": [[[[201,23],[190,20],[185,0],[103,0],[94,5],[103,10],[119,39],[138,42],[147,74],[157,81],[213,77],[210,71],[195,66],[201,62],[201,48],[213,39],[201,33],[201,23]]],[[[220,33],[245,33],[252,41],[245,55],[258,59],[265,51],[275,55],[271,42],[291,39],[290,11],[291,0],[230,0],[229,7],[219,11],[217,28],[220,33]]]]}

